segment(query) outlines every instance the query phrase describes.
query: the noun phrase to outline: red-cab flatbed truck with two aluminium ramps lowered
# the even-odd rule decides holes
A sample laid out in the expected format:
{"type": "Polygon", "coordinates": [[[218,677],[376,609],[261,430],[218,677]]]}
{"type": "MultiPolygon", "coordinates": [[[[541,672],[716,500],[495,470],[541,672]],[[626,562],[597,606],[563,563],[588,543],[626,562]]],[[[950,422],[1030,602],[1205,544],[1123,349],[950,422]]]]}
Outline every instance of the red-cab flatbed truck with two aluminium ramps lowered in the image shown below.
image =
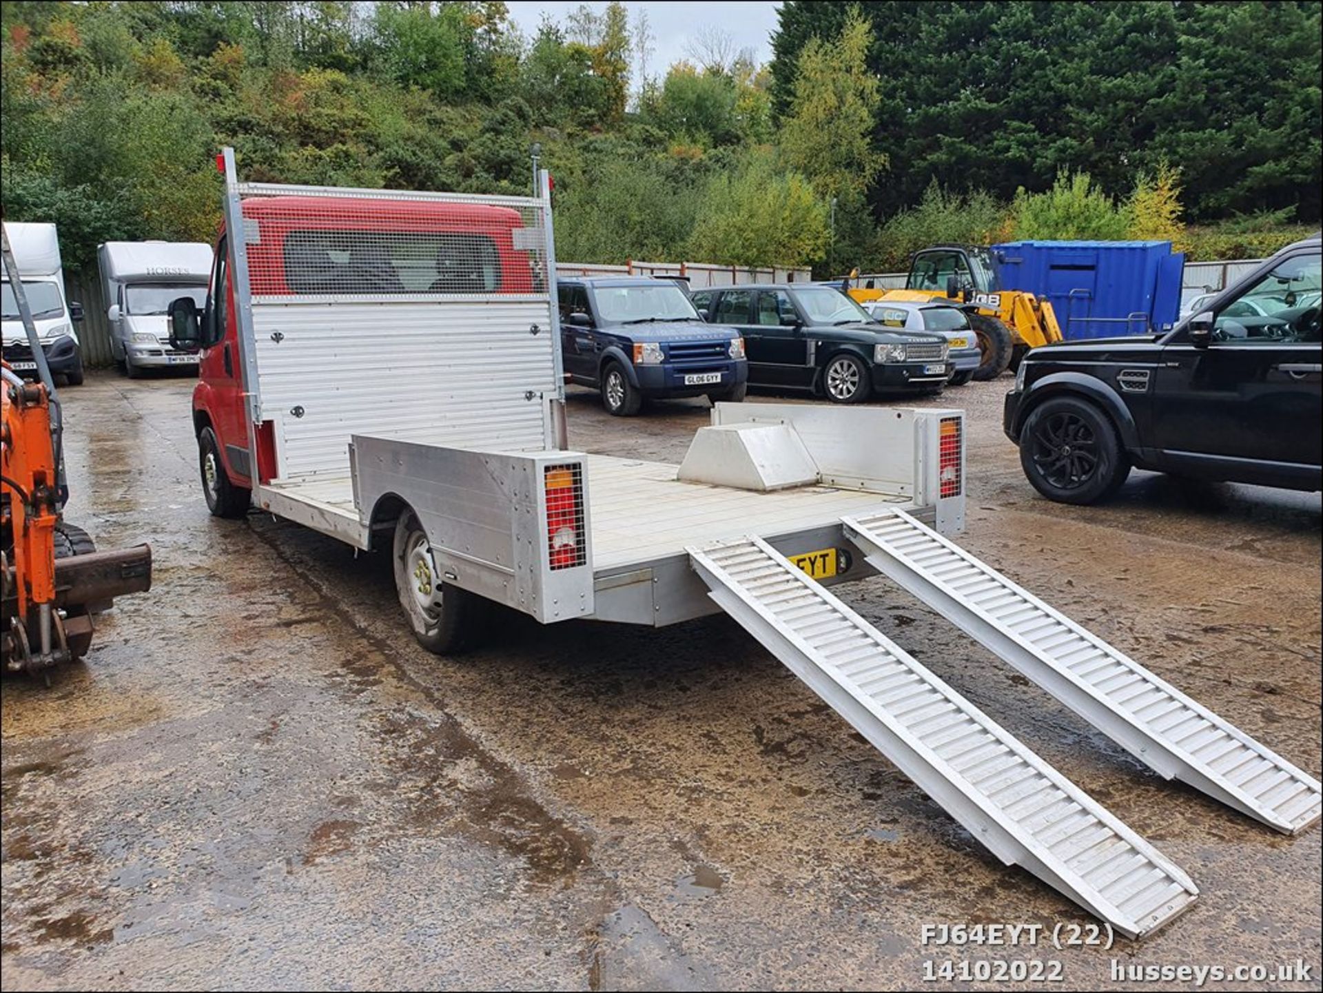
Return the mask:
{"type": "MultiPolygon", "coordinates": [[[[1048,674],[1144,670],[941,534],[963,525],[963,411],[718,402],[680,465],[569,451],[545,172],[537,197],[479,197],[239,182],[229,149],[221,165],[210,292],[171,304],[175,346],[201,349],[212,513],[255,504],[390,555],[435,652],[493,604],[545,624],[725,611],[1007,865],[1131,936],[1193,902],[1184,873],[832,592],[885,573],[1162,775],[1204,784],[1119,702],[1048,674]]],[[[1164,721],[1195,715],[1143,678],[1164,721]]],[[[1298,830],[1318,783],[1271,760],[1293,784],[1271,811],[1217,795],[1298,830]]]]}

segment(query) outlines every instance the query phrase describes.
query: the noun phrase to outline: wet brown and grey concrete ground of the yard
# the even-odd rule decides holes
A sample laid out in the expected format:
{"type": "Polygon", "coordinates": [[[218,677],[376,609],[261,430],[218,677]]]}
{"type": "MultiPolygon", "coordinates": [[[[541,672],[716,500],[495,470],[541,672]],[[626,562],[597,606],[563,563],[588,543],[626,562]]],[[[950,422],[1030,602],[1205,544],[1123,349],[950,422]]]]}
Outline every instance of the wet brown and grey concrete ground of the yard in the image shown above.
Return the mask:
{"type": "MultiPolygon", "coordinates": [[[[970,415],[960,541],[1319,775],[1319,496],[1136,475],[1105,508],[1045,502],[1000,434],[1008,385],[938,401],[970,415]]],[[[1057,959],[1065,989],[1110,988],[1110,959],[1303,959],[1306,982],[1221,988],[1319,988],[1316,828],[1162,781],[886,580],[844,599],[1184,867],[1187,915],[1110,953],[923,948],[925,923],[1090,918],[724,617],[516,619],[427,655],[381,557],[208,517],[191,386],[65,390],[69,520],[148,539],[155,584],[49,689],[4,681],[5,989],[877,989],[925,959],[1057,959]]],[[[705,422],[570,402],[594,452],[677,461],[705,422]]]]}

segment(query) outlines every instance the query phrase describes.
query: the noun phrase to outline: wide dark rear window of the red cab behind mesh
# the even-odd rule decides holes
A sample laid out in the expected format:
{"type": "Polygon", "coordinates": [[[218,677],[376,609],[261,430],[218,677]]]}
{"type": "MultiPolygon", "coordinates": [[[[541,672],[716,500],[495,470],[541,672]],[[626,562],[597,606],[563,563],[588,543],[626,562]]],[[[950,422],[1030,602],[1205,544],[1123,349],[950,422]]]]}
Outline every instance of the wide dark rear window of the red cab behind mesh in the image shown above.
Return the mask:
{"type": "Polygon", "coordinates": [[[299,295],[490,294],[501,280],[484,234],[290,231],[283,247],[284,283],[299,295]]]}

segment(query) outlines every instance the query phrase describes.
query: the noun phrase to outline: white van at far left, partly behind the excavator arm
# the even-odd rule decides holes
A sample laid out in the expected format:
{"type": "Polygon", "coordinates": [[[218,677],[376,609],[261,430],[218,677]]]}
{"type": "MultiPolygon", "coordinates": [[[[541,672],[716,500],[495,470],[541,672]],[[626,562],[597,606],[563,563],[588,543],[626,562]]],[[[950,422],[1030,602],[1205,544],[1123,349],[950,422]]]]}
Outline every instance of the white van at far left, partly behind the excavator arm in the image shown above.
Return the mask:
{"type": "MultiPolygon", "coordinates": [[[[5,230],[46,364],[53,376],[64,376],[71,386],[78,386],[83,379],[83,368],[74,321],[82,320],[82,307],[65,299],[56,226],[7,221],[5,230]]],[[[19,300],[9,288],[8,274],[4,276],[3,303],[4,358],[19,374],[33,377],[37,362],[28,345],[28,332],[19,316],[19,300]]]]}

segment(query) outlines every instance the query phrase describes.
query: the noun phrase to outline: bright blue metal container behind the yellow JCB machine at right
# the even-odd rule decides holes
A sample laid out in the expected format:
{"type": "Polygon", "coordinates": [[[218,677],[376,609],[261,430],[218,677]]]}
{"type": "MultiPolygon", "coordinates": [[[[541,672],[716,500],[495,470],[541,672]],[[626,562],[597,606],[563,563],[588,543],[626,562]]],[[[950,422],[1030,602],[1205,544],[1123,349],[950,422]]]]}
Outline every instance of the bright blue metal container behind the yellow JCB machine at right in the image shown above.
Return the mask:
{"type": "Polygon", "coordinates": [[[992,246],[1003,290],[1052,301],[1066,338],[1170,331],[1185,257],[1171,242],[1005,242],[992,246]]]}

